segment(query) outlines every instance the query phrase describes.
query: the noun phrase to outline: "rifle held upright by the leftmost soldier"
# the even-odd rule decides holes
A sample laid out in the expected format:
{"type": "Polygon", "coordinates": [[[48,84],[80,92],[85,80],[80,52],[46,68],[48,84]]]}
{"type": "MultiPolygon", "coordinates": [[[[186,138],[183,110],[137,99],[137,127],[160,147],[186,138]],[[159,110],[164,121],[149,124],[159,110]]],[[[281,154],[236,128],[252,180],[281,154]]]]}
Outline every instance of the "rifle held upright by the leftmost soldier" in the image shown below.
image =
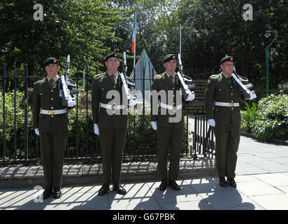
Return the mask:
{"type": "Polygon", "coordinates": [[[73,90],[73,87],[76,87],[76,83],[73,80],[70,80],[69,75],[70,69],[70,55],[67,56],[65,73],[64,76],[61,76],[61,84],[59,83],[59,96],[62,97],[62,105],[67,106],[68,102],[72,100],[73,94],[78,94],[79,90],[73,90]]]}

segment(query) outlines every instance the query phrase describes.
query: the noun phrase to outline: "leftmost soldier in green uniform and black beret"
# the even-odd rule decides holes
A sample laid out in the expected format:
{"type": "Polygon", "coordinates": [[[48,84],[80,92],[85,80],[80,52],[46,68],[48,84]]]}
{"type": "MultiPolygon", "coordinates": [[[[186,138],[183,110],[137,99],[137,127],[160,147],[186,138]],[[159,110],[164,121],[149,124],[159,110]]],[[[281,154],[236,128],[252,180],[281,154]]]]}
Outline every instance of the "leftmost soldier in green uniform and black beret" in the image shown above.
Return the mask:
{"type": "MultiPolygon", "coordinates": [[[[34,83],[33,122],[35,133],[39,136],[41,160],[45,177],[43,199],[54,195],[55,199],[62,196],[62,170],[66,137],[70,130],[67,106],[62,105],[59,97],[59,62],[49,57],[44,62],[47,76],[34,83]]],[[[75,106],[74,101],[68,102],[69,107],[75,106]]]]}

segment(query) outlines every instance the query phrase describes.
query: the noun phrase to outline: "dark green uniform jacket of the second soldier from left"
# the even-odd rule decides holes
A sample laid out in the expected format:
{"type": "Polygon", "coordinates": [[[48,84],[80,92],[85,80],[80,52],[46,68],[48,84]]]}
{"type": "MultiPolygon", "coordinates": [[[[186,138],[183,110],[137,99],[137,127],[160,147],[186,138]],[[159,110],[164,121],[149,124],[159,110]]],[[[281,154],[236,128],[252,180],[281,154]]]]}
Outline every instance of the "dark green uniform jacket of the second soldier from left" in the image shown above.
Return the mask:
{"type": "MultiPolygon", "coordinates": [[[[120,74],[118,73],[118,80],[119,79],[120,74]]],[[[113,83],[112,78],[109,76],[107,72],[94,76],[92,84],[93,123],[98,124],[99,127],[102,128],[110,128],[110,129],[127,128],[128,125],[127,114],[126,115],[122,114],[126,109],[121,110],[121,114],[110,115],[107,113],[107,109],[100,107],[100,103],[109,104],[109,102],[113,100],[107,98],[107,93],[110,90],[117,90],[120,93],[121,105],[122,105],[122,87],[115,85],[113,83]]]]}

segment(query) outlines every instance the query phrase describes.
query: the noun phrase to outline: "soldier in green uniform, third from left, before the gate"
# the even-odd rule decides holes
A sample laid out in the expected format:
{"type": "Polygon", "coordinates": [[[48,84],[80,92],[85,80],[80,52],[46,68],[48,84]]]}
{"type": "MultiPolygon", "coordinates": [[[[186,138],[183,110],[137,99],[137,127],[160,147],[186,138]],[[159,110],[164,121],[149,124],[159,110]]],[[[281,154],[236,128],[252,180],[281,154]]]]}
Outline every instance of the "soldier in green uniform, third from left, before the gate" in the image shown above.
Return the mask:
{"type": "MultiPolygon", "coordinates": [[[[164,57],[163,66],[166,71],[154,77],[151,88],[151,125],[154,130],[157,130],[158,172],[161,179],[159,190],[161,191],[166,190],[167,185],[173,190],[180,190],[176,180],[179,173],[184,117],[180,80],[175,73],[176,58],[174,54],[164,57]],[[159,96],[154,97],[153,91],[159,96]],[[164,97],[161,97],[161,94],[164,94],[164,97]],[[170,148],[169,171],[167,171],[168,148],[170,148]]],[[[194,94],[191,92],[187,100],[193,99],[194,94]]]]}

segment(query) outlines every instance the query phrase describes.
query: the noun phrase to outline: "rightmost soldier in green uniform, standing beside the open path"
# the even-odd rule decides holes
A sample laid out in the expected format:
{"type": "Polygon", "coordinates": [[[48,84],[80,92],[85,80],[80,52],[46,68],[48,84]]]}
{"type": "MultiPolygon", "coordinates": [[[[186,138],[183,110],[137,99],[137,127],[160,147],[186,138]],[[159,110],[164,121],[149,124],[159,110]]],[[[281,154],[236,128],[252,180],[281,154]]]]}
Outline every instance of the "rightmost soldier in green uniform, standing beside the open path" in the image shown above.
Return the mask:
{"type": "Polygon", "coordinates": [[[233,63],[234,59],[231,56],[221,59],[222,72],[210,76],[208,80],[205,106],[208,124],[215,127],[219,185],[222,187],[229,185],[236,188],[234,178],[240,141],[241,90],[238,85],[234,84],[234,79],[231,77],[233,63]]]}

